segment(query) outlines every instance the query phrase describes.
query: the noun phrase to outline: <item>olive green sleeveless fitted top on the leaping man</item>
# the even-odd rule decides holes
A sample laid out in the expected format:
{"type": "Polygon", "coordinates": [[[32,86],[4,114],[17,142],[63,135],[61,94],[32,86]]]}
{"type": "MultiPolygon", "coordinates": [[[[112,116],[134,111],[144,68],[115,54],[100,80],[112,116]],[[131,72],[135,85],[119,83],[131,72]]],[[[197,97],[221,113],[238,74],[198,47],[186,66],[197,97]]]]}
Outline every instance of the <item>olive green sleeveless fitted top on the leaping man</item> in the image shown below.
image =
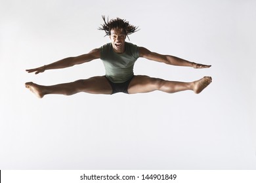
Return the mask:
{"type": "Polygon", "coordinates": [[[117,54],[111,43],[100,47],[100,59],[104,63],[106,77],[114,83],[125,82],[134,75],[133,66],[139,56],[139,47],[130,42],[125,42],[123,54],[117,54]]]}

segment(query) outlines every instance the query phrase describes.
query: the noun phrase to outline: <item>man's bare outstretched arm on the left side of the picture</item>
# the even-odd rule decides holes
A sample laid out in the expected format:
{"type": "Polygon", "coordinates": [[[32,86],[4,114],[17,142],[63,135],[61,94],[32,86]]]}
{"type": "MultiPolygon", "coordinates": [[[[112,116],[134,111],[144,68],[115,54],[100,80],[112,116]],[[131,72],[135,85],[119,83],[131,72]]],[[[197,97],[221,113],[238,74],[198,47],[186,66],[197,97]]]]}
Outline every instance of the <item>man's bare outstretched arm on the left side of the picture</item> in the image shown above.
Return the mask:
{"type": "Polygon", "coordinates": [[[39,73],[43,73],[45,70],[72,67],[73,65],[89,62],[97,58],[100,58],[100,49],[98,48],[91,50],[91,52],[88,54],[83,54],[77,57],[64,58],[59,61],[55,61],[54,63],[50,63],[49,65],[43,65],[42,67],[37,67],[35,69],[27,69],[26,71],[28,73],[35,72],[35,75],[37,75],[39,73]]]}

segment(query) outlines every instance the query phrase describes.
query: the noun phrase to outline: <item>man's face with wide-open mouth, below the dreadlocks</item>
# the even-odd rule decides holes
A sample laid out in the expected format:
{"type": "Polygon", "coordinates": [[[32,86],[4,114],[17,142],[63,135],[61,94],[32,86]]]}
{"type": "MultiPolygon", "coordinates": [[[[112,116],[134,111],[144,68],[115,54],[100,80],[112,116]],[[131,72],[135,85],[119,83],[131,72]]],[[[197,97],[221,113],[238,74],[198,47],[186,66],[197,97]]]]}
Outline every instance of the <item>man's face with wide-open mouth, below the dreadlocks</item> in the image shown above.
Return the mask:
{"type": "Polygon", "coordinates": [[[125,52],[126,35],[123,29],[114,28],[110,31],[110,33],[110,40],[114,51],[119,54],[125,52]]]}

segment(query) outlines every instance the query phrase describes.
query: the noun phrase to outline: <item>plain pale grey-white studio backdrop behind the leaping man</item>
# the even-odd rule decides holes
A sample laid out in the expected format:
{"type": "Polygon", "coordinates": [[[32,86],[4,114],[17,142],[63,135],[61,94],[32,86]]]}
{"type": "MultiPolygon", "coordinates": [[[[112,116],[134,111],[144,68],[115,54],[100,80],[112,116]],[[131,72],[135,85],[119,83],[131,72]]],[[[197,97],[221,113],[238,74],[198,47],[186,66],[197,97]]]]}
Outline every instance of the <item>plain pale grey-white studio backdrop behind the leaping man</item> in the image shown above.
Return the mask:
{"type": "Polygon", "coordinates": [[[0,0],[0,169],[256,169],[255,20],[252,0],[0,0]],[[135,75],[212,84],[199,95],[43,99],[25,88],[104,75],[100,59],[25,71],[109,42],[101,15],[139,26],[129,36],[138,46],[212,65],[139,58],[135,75]]]}

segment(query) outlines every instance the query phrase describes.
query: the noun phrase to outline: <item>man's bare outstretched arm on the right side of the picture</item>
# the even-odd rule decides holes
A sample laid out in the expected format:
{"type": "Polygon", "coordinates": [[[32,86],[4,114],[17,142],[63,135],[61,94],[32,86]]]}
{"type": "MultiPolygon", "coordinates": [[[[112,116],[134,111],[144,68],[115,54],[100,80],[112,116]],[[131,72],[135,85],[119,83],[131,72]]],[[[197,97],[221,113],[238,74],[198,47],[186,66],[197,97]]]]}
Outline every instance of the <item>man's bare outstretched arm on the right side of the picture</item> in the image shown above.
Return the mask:
{"type": "Polygon", "coordinates": [[[163,62],[169,65],[177,65],[177,66],[186,66],[186,67],[194,67],[195,69],[198,68],[209,68],[211,65],[203,65],[200,63],[194,63],[187,61],[185,59],[177,58],[175,56],[168,56],[168,55],[161,55],[155,52],[150,52],[150,50],[139,47],[140,57],[163,62]]]}

